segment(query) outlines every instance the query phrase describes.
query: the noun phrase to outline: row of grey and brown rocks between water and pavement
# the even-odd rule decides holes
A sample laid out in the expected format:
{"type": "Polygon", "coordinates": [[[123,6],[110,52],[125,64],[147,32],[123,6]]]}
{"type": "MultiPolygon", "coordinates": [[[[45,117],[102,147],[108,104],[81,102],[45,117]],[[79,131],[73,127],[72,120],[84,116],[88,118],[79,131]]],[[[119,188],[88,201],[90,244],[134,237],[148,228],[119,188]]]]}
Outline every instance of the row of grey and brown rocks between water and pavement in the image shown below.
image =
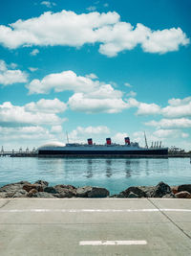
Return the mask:
{"type": "Polygon", "coordinates": [[[44,180],[37,180],[33,184],[20,181],[1,187],[0,198],[191,198],[191,184],[170,187],[161,181],[157,186],[132,186],[110,196],[105,188],[76,188],[63,184],[49,186],[44,180]]]}

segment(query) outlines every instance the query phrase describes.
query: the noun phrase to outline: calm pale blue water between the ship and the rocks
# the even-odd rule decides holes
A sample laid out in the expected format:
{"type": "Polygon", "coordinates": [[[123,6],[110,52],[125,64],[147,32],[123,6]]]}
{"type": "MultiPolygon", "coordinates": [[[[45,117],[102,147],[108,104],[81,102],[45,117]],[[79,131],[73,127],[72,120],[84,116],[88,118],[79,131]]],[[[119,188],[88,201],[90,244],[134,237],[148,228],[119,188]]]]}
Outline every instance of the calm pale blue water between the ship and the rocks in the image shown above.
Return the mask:
{"type": "Polygon", "coordinates": [[[55,184],[100,186],[116,194],[129,186],[191,183],[189,158],[61,159],[0,157],[0,186],[43,179],[55,184]]]}

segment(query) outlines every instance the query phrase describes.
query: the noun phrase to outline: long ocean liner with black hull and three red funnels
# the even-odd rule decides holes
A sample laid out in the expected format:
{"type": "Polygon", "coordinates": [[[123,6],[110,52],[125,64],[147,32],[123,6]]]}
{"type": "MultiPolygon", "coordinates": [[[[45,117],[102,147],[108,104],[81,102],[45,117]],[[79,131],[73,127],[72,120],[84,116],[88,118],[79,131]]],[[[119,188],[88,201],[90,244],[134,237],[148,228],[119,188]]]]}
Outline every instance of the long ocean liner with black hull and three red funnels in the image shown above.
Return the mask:
{"type": "MultiPolygon", "coordinates": [[[[106,138],[104,145],[96,145],[92,138],[88,139],[87,144],[78,143],[51,143],[38,148],[39,156],[167,156],[168,148],[161,147],[161,143],[155,143],[149,148],[147,143],[144,148],[139,147],[137,142],[130,142],[129,137],[124,138],[124,145],[112,143],[111,138],[106,138]]],[[[145,138],[146,142],[146,138],[145,138]]]]}

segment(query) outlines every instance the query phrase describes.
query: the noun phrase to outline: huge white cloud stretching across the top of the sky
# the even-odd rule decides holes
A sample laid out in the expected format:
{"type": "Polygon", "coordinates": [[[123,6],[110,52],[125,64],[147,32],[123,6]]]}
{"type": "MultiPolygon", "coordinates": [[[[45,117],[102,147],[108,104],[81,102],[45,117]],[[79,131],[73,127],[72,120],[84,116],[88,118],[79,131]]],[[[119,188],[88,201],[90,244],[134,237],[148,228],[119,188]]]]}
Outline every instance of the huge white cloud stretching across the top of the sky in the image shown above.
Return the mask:
{"type": "Polygon", "coordinates": [[[180,28],[152,31],[139,23],[133,27],[120,21],[117,12],[45,12],[39,17],[0,26],[0,43],[10,49],[26,45],[80,47],[96,42],[100,44],[99,53],[115,57],[138,44],[148,53],[178,51],[181,45],[189,43],[189,38],[180,28]]]}

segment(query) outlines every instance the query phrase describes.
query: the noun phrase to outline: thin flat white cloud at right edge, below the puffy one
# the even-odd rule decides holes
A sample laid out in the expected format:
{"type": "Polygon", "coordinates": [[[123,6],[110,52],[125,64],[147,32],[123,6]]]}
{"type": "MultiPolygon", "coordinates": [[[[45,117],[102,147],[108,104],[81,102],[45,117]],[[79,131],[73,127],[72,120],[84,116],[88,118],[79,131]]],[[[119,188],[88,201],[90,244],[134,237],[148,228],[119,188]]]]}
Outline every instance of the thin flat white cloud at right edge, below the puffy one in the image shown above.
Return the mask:
{"type": "Polygon", "coordinates": [[[150,121],[145,125],[157,128],[191,128],[191,120],[187,118],[161,119],[160,121],[150,121]]]}

